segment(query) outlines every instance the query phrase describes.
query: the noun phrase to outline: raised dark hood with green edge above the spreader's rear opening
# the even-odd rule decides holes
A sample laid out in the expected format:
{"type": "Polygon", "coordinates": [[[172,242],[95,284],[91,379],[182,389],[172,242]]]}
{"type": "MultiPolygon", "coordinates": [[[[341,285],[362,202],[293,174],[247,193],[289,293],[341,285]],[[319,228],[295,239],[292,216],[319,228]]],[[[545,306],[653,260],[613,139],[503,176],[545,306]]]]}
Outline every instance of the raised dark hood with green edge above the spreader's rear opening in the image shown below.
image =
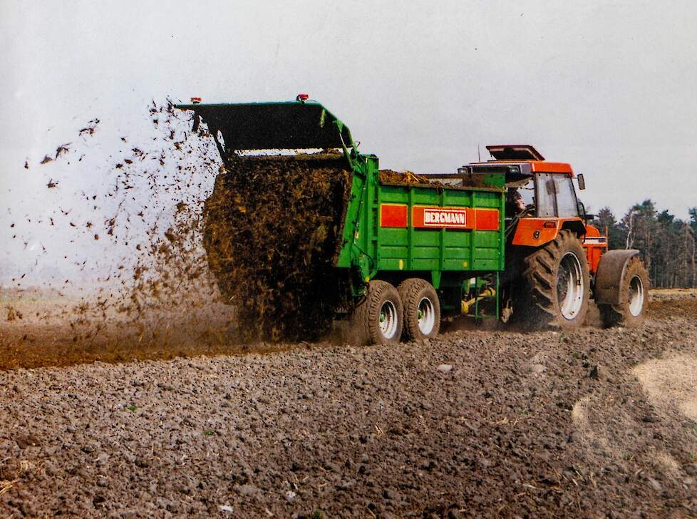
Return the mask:
{"type": "Polygon", "coordinates": [[[281,103],[187,104],[212,133],[220,130],[224,148],[232,150],[294,150],[352,148],[351,133],[324,106],[312,101],[281,103]]]}

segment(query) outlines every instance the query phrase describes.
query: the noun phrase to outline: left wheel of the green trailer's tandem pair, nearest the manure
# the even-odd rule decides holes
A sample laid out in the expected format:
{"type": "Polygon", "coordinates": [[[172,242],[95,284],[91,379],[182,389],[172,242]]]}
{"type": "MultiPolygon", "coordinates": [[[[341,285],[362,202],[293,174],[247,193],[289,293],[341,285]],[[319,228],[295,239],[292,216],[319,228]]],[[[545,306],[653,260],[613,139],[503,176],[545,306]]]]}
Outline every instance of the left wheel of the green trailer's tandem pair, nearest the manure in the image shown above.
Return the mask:
{"type": "Polygon", "coordinates": [[[398,344],[404,308],[397,289],[378,279],[368,283],[366,299],[353,309],[351,328],[356,340],[367,344],[398,344]]]}

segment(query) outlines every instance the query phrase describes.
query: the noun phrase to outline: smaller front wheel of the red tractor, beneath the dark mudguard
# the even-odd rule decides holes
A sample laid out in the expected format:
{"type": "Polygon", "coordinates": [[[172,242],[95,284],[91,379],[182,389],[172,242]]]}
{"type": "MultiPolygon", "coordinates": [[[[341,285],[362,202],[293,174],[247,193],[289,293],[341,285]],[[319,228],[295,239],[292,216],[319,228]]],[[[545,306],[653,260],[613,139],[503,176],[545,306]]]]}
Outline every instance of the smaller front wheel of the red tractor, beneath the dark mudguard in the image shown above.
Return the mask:
{"type": "Polygon", "coordinates": [[[649,273],[639,256],[629,260],[619,287],[620,304],[599,304],[600,321],[604,328],[621,325],[636,328],[644,323],[649,304],[649,273]]]}

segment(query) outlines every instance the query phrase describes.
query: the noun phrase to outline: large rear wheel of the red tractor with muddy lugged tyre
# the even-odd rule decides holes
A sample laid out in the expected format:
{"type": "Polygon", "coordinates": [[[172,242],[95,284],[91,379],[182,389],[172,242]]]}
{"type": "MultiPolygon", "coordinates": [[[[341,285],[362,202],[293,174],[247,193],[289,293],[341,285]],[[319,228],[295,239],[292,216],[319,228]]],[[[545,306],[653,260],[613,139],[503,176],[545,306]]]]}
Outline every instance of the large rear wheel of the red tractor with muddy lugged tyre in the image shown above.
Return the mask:
{"type": "Polygon", "coordinates": [[[561,230],[554,240],[527,255],[517,285],[513,313],[526,329],[581,327],[591,290],[586,252],[579,237],[561,230]]]}

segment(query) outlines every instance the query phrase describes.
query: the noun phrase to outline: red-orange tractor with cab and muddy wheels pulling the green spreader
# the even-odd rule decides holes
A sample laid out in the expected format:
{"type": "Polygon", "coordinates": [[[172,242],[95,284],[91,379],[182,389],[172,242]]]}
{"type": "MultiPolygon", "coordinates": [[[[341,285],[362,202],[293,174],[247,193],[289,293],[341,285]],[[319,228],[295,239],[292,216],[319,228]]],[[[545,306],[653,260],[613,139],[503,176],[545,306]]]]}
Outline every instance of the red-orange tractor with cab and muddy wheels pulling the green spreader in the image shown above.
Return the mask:
{"type": "Polygon", "coordinates": [[[608,250],[607,237],[579,202],[571,165],[549,162],[530,145],[490,145],[493,160],[459,173],[486,174],[507,167],[506,270],[502,318],[528,327],[580,327],[589,299],[606,327],[635,327],[644,319],[649,277],[638,250],[608,250]]]}

